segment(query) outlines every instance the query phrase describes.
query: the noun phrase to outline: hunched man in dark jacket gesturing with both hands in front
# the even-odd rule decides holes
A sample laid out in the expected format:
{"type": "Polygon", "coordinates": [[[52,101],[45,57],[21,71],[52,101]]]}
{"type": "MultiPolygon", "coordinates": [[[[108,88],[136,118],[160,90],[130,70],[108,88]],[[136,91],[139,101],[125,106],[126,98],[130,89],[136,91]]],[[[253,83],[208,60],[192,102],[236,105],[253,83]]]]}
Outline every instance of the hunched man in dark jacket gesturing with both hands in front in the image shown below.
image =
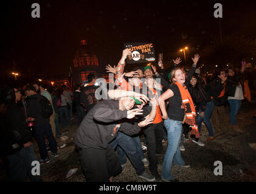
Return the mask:
{"type": "Polygon", "coordinates": [[[109,143],[116,138],[119,130],[127,135],[135,135],[141,127],[152,122],[151,118],[147,118],[138,124],[131,124],[129,119],[142,115],[142,109],[131,110],[134,104],[135,100],[130,97],[100,101],[81,122],[75,144],[86,181],[111,181],[113,176],[122,172],[117,155],[109,143]]]}

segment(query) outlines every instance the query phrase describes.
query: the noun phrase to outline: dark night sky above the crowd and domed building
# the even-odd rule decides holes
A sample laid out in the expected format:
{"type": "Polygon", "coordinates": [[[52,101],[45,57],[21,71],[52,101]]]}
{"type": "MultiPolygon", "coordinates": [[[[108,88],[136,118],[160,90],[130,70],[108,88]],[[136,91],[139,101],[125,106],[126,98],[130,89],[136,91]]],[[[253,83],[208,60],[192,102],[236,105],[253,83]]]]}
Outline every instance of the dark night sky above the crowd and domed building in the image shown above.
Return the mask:
{"type": "MultiPolygon", "coordinates": [[[[68,75],[80,39],[99,59],[116,65],[125,42],[153,42],[164,62],[180,56],[187,45],[187,63],[198,53],[202,71],[215,64],[240,65],[256,59],[255,1],[8,1],[1,2],[0,81],[68,75]],[[32,18],[31,5],[40,4],[41,18],[32,18]],[[220,18],[213,5],[223,5],[220,18]],[[186,37],[182,39],[182,34],[186,37]],[[254,58],[254,59],[252,59],[254,58]]],[[[100,68],[100,67],[99,67],[100,68]]],[[[126,67],[129,69],[129,67],[126,67]]],[[[105,68],[103,69],[105,71],[105,68]]]]}

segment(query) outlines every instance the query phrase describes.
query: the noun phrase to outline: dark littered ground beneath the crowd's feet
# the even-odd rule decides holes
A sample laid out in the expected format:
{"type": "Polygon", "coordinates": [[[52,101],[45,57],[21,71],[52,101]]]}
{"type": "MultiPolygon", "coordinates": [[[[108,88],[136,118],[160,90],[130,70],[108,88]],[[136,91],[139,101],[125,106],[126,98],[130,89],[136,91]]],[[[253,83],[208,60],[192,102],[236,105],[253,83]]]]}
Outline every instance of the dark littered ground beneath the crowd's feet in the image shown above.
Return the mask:
{"type": "MultiPolygon", "coordinates": [[[[190,140],[184,141],[185,151],[181,152],[184,161],[190,163],[190,168],[182,169],[173,167],[171,172],[180,181],[206,181],[206,182],[234,182],[234,181],[256,181],[256,151],[248,146],[249,142],[256,142],[256,119],[252,116],[256,113],[256,104],[247,105],[243,103],[237,115],[238,125],[244,133],[230,133],[229,136],[219,136],[211,142],[206,142],[208,132],[202,132],[201,141],[205,142],[200,147],[190,140]],[[215,176],[213,170],[215,161],[223,163],[223,176],[215,176]]],[[[228,118],[228,113],[227,113],[228,118]]],[[[71,127],[63,127],[62,132],[67,132],[69,137],[66,141],[59,141],[58,146],[67,144],[58,150],[58,158],[52,158],[49,164],[41,165],[41,177],[46,182],[83,182],[86,181],[78,162],[75,151],[74,135],[77,130],[77,118],[71,121],[71,127]],[[66,178],[70,169],[78,168],[77,173],[66,178]]],[[[143,137],[142,137],[143,140],[143,137]]],[[[164,150],[167,144],[163,144],[164,150]]],[[[38,148],[35,146],[36,152],[38,148]]],[[[146,154],[147,156],[147,154],[146,154]]],[[[162,171],[164,156],[158,157],[158,171],[162,171]]],[[[148,167],[146,167],[148,171],[148,167]]],[[[145,182],[136,175],[136,171],[130,161],[120,175],[114,178],[115,182],[145,182]]]]}

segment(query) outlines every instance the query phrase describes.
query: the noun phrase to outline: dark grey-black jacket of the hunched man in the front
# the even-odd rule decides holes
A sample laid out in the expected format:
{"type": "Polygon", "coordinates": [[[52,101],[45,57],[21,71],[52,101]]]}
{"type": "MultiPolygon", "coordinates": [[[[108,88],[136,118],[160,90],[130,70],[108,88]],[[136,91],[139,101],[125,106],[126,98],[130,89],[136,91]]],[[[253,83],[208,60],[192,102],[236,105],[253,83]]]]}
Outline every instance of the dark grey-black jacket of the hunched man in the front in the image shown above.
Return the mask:
{"type": "Polygon", "coordinates": [[[131,124],[126,116],[127,111],[119,110],[119,101],[100,101],[87,113],[79,125],[75,144],[80,148],[106,149],[108,143],[116,138],[119,130],[127,135],[139,133],[140,127],[137,124],[131,124]],[[115,129],[116,124],[120,123],[121,127],[115,129]]]}

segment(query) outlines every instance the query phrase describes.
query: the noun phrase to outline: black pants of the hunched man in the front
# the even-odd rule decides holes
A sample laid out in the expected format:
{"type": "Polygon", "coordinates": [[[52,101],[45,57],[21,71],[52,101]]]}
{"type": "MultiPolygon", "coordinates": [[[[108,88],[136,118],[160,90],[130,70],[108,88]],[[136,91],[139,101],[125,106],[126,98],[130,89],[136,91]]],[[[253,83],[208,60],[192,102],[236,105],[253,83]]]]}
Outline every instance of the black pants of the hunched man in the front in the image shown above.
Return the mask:
{"type": "Polygon", "coordinates": [[[78,155],[87,182],[108,182],[111,176],[122,172],[116,152],[110,145],[106,149],[80,149],[78,155]]]}

